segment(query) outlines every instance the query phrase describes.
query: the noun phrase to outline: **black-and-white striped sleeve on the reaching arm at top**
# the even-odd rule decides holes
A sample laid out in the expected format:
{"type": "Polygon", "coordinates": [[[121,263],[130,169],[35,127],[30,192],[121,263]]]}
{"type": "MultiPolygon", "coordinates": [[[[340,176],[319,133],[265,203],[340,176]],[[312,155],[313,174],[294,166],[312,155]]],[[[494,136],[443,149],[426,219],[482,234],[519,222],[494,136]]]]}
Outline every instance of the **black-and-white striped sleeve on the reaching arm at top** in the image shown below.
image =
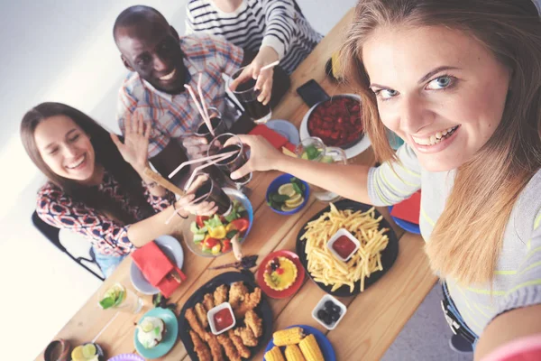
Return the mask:
{"type": "Polygon", "coordinates": [[[266,27],[261,47],[270,46],[281,60],[288,53],[297,32],[295,3],[290,0],[267,0],[263,8],[266,27]]]}

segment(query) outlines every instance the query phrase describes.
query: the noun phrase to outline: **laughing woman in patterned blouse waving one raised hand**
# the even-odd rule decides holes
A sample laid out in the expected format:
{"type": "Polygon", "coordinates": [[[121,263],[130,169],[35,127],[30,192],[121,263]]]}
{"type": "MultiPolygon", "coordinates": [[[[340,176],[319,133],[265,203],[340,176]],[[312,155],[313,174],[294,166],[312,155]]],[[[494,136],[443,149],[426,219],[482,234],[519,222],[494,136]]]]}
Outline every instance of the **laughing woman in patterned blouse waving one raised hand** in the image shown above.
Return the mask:
{"type": "Polygon", "coordinates": [[[38,192],[37,213],[54,227],[89,238],[96,262],[110,275],[134,247],[178,229],[188,213],[215,213],[213,203],[191,206],[143,174],[150,125],[127,120],[124,143],[79,110],[42,103],[23,117],[21,138],[32,162],[48,178],[38,192]],[[166,220],[176,212],[170,224],[166,220]]]}

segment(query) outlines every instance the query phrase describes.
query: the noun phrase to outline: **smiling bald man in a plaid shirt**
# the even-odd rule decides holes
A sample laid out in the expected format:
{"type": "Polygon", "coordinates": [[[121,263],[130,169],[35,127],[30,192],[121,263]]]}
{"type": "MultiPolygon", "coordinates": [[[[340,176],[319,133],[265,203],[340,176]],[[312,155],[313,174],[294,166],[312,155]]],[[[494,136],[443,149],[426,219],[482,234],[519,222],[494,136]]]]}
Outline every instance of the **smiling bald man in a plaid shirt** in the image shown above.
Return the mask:
{"type": "Polygon", "coordinates": [[[117,17],[114,36],[124,66],[130,70],[119,92],[118,124],[124,133],[125,116],[142,114],[152,127],[149,158],[158,171],[167,174],[186,160],[180,143],[188,153],[200,153],[204,147],[199,139],[180,139],[202,121],[184,85],[197,93],[200,73],[206,105],[217,107],[226,119],[233,117],[222,74],[233,74],[241,67],[243,50],[205,33],[180,38],[162,14],[142,5],[129,7],[117,17]]]}

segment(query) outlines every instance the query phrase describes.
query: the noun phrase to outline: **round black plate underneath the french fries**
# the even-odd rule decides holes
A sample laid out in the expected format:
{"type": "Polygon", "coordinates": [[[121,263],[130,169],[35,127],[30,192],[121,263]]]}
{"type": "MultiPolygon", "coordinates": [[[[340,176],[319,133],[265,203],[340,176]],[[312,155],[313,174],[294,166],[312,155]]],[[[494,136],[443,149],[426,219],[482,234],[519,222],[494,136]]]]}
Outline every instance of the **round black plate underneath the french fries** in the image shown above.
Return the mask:
{"type": "MultiPolygon", "coordinates": [[[[353,209],[353,211],[362,210],[363,212],[365,212],[365,211],[369,210],[370,208],[372,208],[372,206],[369,206],[369,205],[363,204],[363,203],[359,203],[359,202],[355,202],[355,201],[350,200],[350,199],[339,200],[339,201],[335,202],[335,206],[336,206],[336,208],[338,208],[338,210],[353,209]]],[[[310,218],[310,220],[308,222],[311,222],[313,220],[316,220],[317,218],[320,218],[325,212],[328,212],[330,210],[331,210],[330,206],[323,209],[321,212],[317,213],[314,217],[310,218]]],[[[381,213],[378,212],[378,210],[375,210],[375,217],[379,218],[380,216],[381,216],[381,213]]],[[[312,279],[312,281],[314,281],[314,278],[308,272],[308,269],[307,269],[307,255],[305,253],[306,241],[301,241],[300,240],[300,238],[306,232],[305,227],[306,227],[306,225],[303,226],[300,229],[300,231],[298,232],[298,236],[297,236],[297,255],[298,255],[298,258],[300,259],[300,263],[305,267],[305,269],[307,270],[307,273],[310,276],[310,278],[312,279]]],[[[387,271],[389,271],[390,267],[394,264],[395,260],[397,259],[397,256],[399,255],[399,239],[397,238],[397,235],[395,235],[394,231],[390,227],[389,222],[387,222],[387,220],[385,220],[385,218],[381,219],[381,221],[380,221],[380,229],[381,228],[388,228],[389,229],[387,231],[387,233],[386,233],[386,235],[389,236],[389,244],[387,245],[387,248],[385,248],[381,252],[381,266],[383,267],[383,271],[377,271],[377,272],[371,273],[370,278],[366,278],[364,280],[364,289],[365,290],[368,287],[370,287],[371,284],[373,284],[374,282],[377,282],[381,278],[381,276],[383,274],[385,274],[385,273],[387,273],[387,271]]],[[[314,281],[314,282],[316,282],[316,281],[314,281]]],[[[339,289],[337,289],[335,292],[331,292],[331,289],[333,288],[333,286],[331,286],[331,285],[326,286],[325,284],[320,283],[320,282],[316,282],[316,284],[323,291],[325,291],[325,292],[327,292],[329,294],[332,294],[334,296],[338,296],[338,297],[353,296],[353,295],[358,294],[358,293],[361,292],[361,281],[357,281],[357,282],[354,283],[355,288],[353,289],[353,292],[350,292],[350,288],[347,285],[343,285],[339,289]]]]}

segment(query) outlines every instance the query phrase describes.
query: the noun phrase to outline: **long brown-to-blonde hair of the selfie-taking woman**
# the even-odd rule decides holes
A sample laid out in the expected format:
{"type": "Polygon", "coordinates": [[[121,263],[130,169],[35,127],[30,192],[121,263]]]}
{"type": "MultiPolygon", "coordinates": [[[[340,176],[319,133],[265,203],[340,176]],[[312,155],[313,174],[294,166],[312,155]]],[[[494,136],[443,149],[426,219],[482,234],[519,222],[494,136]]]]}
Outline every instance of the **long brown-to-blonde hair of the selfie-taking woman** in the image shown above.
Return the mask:
{"type": "MultiPolygon", "coordinates": [[[[426,253],[442,278],[493,279],[511,210],[541,168],[541,22],[531,0],[360,0],[341,51],[344,76],[362,97],[379,160],[396,161],[362,64],[362,44],[381,26],[445,26],[467,32],[509,70],[500,125],[459,167],[426,253]]],[[[541,195],[540,195],[541,196],[541,195]]]]}

